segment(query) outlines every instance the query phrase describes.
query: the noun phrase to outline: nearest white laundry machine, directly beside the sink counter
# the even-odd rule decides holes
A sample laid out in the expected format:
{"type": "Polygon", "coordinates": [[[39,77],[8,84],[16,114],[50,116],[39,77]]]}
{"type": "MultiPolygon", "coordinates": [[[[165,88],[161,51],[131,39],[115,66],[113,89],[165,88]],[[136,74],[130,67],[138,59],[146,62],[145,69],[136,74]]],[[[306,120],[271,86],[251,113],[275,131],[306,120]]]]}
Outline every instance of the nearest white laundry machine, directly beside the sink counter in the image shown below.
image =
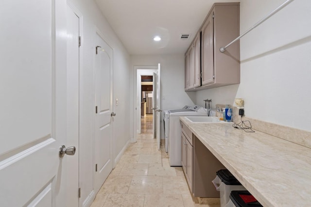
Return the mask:
{"type": "Polygon", "coordinates": [[[180,116],[207,116],[207,109],[194,105],[187,109],[173,109],[164,111],[165,139],[170,166],[181,166],[181,124],[180,116]]]}

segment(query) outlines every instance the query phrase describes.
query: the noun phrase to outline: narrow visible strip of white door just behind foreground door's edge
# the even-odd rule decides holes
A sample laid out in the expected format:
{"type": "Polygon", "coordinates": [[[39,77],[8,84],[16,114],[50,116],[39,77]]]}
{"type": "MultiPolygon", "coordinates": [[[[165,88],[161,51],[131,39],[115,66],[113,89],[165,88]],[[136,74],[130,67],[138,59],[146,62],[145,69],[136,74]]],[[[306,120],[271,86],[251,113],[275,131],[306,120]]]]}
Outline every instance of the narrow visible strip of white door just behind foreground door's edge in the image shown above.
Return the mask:
{"type": "MultiPolygon", "coordinates": [[[[67,5],[67,145],[76,156],[67,157],[67,185],[79,189],[79,17],[67,5]]],[[[66,206],[79,206],[76,190],[68,190],[66,206]]]]}

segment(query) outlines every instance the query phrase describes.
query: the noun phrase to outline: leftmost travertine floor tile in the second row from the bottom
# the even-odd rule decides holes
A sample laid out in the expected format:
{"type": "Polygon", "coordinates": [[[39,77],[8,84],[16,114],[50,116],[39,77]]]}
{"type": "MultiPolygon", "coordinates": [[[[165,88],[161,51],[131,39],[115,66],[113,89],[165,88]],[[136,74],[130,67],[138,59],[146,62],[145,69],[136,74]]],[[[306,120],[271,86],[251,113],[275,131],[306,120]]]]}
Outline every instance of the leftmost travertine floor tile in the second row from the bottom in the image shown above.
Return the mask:
{"type": "Polygon", "coordinates": [[[133,176],[109,175],[98,193],[126,194],[133,176]]]}

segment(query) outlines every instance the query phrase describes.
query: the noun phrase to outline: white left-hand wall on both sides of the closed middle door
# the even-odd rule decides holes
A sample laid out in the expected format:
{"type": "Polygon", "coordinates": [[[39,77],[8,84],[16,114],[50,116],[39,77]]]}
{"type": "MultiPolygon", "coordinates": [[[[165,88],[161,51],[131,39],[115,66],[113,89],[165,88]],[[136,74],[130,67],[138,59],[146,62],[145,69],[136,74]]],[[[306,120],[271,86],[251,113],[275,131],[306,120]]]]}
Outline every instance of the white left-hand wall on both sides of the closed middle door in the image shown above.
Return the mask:
{"type": "Polygon", "coordinates": [[[113,152],[115,158],[129,141],[129,106],[128,88],[130,86],[130,57],[121,41],[102,15],[93,0],[70,0],[83,15],[83,65],[80,68],[80,187],[81,200],[84,202],[93,190],[93,130],[94,130],[94,34],[95,26],[104,35],[105,41],[114,49],[113,85],[114,97],[119,105],[115,105],[117,116],[113,122],[113,152]]]}

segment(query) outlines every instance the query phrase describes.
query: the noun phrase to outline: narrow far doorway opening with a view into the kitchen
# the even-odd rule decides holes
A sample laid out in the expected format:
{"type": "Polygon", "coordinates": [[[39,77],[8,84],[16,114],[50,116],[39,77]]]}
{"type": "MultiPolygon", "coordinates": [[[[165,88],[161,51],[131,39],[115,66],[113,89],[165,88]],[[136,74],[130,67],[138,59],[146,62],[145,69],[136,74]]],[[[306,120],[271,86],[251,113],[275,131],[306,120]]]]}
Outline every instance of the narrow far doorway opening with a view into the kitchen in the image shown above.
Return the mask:
{"type": "Polygon", "coordinates": [[[153,76],[141,75],[140,134],[153,134],[153,76]]]}

